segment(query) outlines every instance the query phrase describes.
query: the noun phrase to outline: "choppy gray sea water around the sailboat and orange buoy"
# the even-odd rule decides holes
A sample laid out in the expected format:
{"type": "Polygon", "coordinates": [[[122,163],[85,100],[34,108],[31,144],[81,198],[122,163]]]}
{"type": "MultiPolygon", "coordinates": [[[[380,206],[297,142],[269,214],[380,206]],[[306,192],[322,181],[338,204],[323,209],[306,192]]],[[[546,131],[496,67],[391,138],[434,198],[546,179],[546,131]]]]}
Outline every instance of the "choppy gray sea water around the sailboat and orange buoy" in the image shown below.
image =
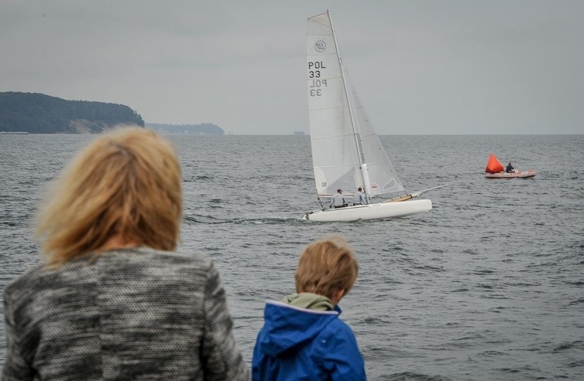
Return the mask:
{"type": "MultiPolygon", "coordinates": [[[[341,301],[370,380],[584,379],[584,135],[384,136],[430,213],[303,222],[308,136],[169,135],[183,168],[184,252],[214,259],[251,362],[263,303],[293,292],[302,248],[341,234],[361,270],[341,301]],[[483,177],[490,153],[533,179],[483,177]]],[[[0,287],[38,262],[29,219],[84,135],[0,136],[0,287]]],[[[4,360],[0,326],[0,363],[4,360]]]]}

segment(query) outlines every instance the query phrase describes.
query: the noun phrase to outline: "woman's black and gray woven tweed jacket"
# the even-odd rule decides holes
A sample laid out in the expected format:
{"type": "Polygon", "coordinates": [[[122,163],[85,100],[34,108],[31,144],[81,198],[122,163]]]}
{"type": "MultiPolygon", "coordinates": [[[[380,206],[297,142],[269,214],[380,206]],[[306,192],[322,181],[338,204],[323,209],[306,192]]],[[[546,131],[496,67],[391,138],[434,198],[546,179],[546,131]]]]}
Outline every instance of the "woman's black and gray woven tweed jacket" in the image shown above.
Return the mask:
{"type": "Polygon", "coordinates": [[[3,380],[249,380],[212,261],[111,250],[4,293],[3,380]]]}

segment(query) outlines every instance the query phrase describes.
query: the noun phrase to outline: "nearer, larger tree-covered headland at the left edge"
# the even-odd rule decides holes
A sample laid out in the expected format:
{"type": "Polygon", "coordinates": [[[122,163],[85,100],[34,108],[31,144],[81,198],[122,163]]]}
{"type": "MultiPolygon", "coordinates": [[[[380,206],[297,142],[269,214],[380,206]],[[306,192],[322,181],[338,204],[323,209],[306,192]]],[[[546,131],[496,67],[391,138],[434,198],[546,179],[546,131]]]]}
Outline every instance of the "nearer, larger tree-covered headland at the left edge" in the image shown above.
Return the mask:
{"type": "Polygon", "coordinates": [[[32,92],[0,92],[0,131],[100,133],[117,124],[144,127],[140,114],[125,105],[66,101],[32,92]]]}

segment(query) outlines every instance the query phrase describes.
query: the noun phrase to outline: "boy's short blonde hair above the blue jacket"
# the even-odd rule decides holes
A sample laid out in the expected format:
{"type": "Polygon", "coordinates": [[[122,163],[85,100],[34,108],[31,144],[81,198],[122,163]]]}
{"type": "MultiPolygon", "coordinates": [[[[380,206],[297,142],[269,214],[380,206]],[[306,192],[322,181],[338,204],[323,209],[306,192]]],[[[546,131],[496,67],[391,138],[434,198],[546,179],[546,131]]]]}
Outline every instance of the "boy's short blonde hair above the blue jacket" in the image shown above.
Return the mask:
{"type": "Polygon", "coordinates": [[[311,292],[332,298],[335,292],[352,289],[359,266],[354,250],[343,237],[334,236],[308,245],[298,261],[296,292],[311,292]]]}

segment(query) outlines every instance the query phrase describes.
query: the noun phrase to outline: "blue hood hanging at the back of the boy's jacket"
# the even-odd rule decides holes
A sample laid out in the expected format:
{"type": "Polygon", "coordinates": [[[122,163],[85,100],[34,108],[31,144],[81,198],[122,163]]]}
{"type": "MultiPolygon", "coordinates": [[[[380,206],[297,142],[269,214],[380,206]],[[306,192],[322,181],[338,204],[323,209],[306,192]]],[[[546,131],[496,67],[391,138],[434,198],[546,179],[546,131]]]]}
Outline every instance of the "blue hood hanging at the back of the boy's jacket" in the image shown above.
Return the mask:
{"type": "MultiPolygon", "coordinates": [[[[321,300],[319,303],[322,302],[324,301],[321,300]]],[[[264,309],[265,324],[258,335],[260,352],[278,356],[289,350],[298,350],[310,343],[340,314],[341,308],[338,306],[334,306],[333,311],[315,311],[268,300],[264,309]]]]}

